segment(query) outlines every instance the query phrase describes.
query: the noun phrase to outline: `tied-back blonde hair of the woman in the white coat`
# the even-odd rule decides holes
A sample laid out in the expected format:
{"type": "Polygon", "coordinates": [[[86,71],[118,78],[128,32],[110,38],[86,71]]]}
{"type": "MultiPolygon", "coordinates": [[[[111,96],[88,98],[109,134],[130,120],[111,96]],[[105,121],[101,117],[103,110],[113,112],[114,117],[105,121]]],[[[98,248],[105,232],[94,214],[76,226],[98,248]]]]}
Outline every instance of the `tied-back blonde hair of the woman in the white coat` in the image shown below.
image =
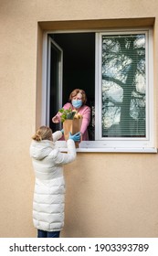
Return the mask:
{"type": "Polygon", "coordinates": [[[37,129],[32,139],[39,142],[42,140],[52,140],[52,130],[47,126],[41,126],[37,129]]]}

